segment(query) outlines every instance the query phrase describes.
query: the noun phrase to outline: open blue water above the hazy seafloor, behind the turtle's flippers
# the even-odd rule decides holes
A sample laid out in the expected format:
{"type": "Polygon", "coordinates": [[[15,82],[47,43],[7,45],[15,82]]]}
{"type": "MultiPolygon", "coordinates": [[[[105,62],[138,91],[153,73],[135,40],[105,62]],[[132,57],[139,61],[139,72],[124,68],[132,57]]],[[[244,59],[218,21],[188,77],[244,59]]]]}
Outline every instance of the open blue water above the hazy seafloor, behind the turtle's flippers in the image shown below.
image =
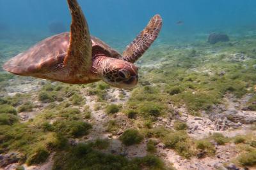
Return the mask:
{"type": "MultiPolygon", "coordinates": [[[[195,34],[242,34],[256,29],[255,0],[79,0],[91,34],[108,41],[130,41],[159,13],[164,26],[159,39],[193,38],[195,34]],[[177,25],[182,21],[184,24],[177,25]]],[[[65,0],[0,0],[0,34],[42,35],[49,24],[61,22],[69,29],[65,0]],[[2,26],[3,27],[3,26],[2,26]],[[1,27],[0,27],[1,28],[1,27]],[[7,29],[6,29],[7,28],[7,29]],[[7,30],[7,31],[6,31],[7,30]]]]}

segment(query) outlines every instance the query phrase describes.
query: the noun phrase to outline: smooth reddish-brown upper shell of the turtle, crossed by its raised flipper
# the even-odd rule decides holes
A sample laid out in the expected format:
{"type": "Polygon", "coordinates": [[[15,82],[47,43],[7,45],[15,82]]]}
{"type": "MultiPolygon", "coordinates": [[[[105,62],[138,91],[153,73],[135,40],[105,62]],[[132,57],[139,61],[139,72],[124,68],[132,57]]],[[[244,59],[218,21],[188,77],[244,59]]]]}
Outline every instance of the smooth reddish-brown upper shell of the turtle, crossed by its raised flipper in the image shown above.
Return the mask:
{"type": "MultiPolygon", "coordinates": [[[[26,52],[8,60],[3,69],[13,74],[33,76],[33,74],[49,73],[63,64],[67,55],[70,33],[64,32],[40,41],[26,52]]],[[[118,58],[121,55],[103,41],[91,36],[92,53],[105,53],[108,57],[118,58]]],[[[92,56],[93,59],[93,56],[92,56]]]]}

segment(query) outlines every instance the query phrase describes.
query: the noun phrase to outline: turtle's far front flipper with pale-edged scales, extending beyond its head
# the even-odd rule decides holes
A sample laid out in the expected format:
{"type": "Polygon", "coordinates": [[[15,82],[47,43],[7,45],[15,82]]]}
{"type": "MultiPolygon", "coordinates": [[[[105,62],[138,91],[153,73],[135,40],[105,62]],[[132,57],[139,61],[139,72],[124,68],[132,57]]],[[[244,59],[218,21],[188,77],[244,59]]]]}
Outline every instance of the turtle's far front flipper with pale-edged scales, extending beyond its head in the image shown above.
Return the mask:
{"type": "Polygon", "coordinates": [[[121,59],[132,63],[136,62],[157,38],[162,24],[163,20],[160,15],[151,18],[147,27],[127,46],[121,59]]]}

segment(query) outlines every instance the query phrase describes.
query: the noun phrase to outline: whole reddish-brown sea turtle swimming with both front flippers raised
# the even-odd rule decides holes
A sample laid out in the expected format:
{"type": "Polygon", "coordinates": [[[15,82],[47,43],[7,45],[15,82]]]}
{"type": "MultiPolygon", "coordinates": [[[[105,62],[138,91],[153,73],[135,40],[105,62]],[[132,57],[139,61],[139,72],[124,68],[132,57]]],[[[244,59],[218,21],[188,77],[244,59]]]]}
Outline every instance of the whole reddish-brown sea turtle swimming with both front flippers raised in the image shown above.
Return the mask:
{"type": "Polygon", "coordinates": [[[155,15],[120,55],[100,39],[90,36],[77,0],[67,0],[67,3],[72,15],[70,32],[44,39],[8,60],[3,69],[21,76],[71,84],[103,80],[114,87],[134,87],[138,83],[138,68],[133,63],[157,38],[162,27],[160,15],[155,15]]]}

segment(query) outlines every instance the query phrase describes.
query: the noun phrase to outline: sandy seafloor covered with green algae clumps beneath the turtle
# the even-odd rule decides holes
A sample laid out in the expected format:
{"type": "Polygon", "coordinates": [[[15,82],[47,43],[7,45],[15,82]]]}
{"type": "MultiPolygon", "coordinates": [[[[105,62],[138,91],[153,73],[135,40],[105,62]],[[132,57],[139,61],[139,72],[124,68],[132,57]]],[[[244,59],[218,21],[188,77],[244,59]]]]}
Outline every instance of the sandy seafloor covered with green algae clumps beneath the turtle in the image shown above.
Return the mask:
{"type": "MultiPolygon", "coordinates": [[[[1,70],[0,169],[255,169],[256,32],[247,33],[215,45],[207,34],[162,36],[137,62],[132,90],[1,70]]],[[[0,64],[36,41],[0,39],[0,64]]]]}

